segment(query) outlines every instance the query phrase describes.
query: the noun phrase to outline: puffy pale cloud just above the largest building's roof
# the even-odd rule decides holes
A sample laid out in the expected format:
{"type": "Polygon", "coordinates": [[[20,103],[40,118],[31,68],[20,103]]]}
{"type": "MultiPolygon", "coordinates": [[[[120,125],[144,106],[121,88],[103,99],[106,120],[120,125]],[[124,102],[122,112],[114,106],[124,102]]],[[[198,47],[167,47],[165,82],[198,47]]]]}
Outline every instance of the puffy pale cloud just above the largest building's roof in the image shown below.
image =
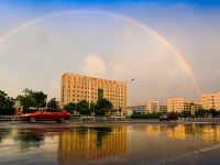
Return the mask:
{"type": "Polygon", "coordinates": [[[92,54],[86,56],[82,65],[80,66],[80,70],[85,75],[100,77],[107,73],[107,64],[103,58],[92,54]]]}

